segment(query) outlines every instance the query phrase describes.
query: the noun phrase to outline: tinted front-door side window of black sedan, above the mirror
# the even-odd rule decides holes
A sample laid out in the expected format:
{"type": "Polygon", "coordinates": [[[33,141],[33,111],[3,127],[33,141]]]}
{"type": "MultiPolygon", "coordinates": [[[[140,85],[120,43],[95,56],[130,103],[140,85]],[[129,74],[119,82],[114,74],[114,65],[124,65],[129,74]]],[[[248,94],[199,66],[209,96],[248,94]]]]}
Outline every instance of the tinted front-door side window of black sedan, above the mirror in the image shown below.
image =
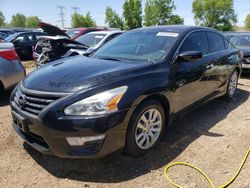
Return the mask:
{"type": "Polygon", "coordinates": [[[180,53],[185,51],[201,51],[203,55],[209,53],[207,39],[204,32],[191,33],[180,48],[180,53]]]}

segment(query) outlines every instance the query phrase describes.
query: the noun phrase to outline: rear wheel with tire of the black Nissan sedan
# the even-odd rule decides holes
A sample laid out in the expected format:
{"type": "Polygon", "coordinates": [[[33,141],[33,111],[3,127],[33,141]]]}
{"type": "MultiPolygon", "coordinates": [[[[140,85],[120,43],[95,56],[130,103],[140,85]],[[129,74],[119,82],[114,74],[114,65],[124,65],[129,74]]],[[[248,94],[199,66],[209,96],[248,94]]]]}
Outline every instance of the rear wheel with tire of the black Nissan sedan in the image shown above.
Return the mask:
{"type": "Polygon", "coordinates": [[[234,70],[229,78],[229,82],[227,85],[227,92],[225,94],[225,97],[227,99],[232,99],[235,96],[238,86],[238,80],[239,80],[239,73],[237,70],[234,70]]]}

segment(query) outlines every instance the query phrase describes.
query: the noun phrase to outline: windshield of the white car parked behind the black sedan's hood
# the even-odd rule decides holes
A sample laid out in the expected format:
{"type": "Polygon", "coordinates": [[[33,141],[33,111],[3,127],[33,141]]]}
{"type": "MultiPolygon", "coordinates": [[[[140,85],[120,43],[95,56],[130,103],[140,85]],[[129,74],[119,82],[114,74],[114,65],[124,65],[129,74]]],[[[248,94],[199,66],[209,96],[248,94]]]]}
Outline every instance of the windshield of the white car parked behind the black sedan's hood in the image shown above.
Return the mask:
{"type": "Polygon", "coordinates": [[[76,41],[88,47],[95,47],[105,36],[106,34],[101,33],[87,33],[76,39],[76,41]]]}

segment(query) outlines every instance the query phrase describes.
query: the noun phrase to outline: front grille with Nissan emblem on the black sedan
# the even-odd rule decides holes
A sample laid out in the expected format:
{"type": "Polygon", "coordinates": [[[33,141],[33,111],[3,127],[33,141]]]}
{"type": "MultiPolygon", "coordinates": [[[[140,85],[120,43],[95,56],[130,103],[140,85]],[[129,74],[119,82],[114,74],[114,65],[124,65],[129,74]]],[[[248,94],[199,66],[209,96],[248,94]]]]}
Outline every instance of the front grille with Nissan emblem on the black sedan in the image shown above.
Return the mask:
{"type": "Polygon", "coordinates": [[[39,115],[49,104],[59,99],[60,96],[37,96],[17,89],[14,95],[14,102],[25,112],[39,115]]]}

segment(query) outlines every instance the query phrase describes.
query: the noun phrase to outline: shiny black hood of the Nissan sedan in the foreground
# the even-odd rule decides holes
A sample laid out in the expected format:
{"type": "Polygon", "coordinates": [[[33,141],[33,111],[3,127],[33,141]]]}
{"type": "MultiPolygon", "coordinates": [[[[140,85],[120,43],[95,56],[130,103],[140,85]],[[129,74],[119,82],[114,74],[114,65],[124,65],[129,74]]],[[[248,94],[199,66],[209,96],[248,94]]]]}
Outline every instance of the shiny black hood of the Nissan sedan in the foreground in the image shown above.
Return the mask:
{"type": "Polygon", "coordinates": [[[31,90],[74,93],[124,79],[147,65],[150,64],[74,56],[37,69],[22,84],[31,90]]]}

